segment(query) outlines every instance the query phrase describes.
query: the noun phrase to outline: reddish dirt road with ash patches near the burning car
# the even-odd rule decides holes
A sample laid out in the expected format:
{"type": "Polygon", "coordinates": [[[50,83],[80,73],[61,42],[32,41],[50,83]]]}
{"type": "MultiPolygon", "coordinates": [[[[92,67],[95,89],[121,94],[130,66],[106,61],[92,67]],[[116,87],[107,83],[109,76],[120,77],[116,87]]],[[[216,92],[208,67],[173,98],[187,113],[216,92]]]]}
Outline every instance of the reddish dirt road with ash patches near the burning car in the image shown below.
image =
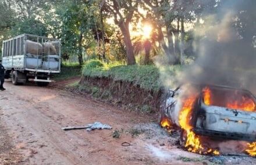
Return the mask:
{"type": "Polygon", "coordinates": [[[0,149],[0,164],[184,164],[181,156],[205,163],[201,156],[174,146],[176,139],[150,116],[52,87],[10,82],[5,87],[0,93],[0,140],[6,140],[6,149],[0,149]],[[61,130],[95,121],[113,129],[61,130]],[[120,138],[112,137],[114,130],[120,138]]]}

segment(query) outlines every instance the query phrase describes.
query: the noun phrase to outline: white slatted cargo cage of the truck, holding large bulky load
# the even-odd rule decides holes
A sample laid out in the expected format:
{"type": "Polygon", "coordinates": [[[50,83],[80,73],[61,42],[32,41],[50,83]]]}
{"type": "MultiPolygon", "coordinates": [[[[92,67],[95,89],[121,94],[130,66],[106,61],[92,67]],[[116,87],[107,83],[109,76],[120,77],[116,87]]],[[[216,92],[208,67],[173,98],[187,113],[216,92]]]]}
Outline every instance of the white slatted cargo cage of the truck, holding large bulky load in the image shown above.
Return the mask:
{"type": "Polygon", "coordinates": [[[61,43],[58,39],[23,34],[3,41],[3,66],[42,72],[61,69],[61,43]]]}

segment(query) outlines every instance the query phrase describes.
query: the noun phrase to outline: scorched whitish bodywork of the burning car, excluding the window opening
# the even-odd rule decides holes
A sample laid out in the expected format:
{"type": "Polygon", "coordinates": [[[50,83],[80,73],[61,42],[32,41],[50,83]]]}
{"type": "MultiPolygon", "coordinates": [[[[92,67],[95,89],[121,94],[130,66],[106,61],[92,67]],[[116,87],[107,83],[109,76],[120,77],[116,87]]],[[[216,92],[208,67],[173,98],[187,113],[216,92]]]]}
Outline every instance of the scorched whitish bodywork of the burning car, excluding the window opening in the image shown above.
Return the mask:
{"type": "MultiPolygon", "coordinates": [[[[210,86],[211,87],[211,86],[210,86]]],[[[247,90],[233,89],[225,86],[212,86],[219,90],[239,90],[255,100],[253,94],[247,90]]],[[[167,116],[172,123],[179,126],[180,97],[168,91],[162,114],[167,116]]],[[[177,91],[180,93],[181,91],[177,91]]],[[[193,110],[191,125],[195,133],[215,138],[227,138],[233,140],[256,140],[256,112],[231,109],[215,105],[205,105],[202,101],[202,94],[197,98],[197,105],[193,110]]]]}

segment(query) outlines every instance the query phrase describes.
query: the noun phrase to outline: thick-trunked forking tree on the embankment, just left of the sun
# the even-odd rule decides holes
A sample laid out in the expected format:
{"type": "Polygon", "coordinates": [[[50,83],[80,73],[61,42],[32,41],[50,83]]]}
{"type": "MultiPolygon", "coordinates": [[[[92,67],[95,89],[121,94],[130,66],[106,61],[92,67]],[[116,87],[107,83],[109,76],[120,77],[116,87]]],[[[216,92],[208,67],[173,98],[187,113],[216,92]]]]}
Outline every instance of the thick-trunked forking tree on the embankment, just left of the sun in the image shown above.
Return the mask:
{"type": "Polygon", "coordinates": [[[134,12],[138,9],[138,3],[140,1],[120,1],[120,0],[104,0],[102,1],[102,8],[105,12],[109,13],[110,17],[114,17],[115,24],[120,28],[122,35],[124,36],[124,42],[126,47],[127,64],[136,64],[134,57],[134,47],[131,43],[131,36],[129,30],[129,24],[133,19],[134,12]]]}

